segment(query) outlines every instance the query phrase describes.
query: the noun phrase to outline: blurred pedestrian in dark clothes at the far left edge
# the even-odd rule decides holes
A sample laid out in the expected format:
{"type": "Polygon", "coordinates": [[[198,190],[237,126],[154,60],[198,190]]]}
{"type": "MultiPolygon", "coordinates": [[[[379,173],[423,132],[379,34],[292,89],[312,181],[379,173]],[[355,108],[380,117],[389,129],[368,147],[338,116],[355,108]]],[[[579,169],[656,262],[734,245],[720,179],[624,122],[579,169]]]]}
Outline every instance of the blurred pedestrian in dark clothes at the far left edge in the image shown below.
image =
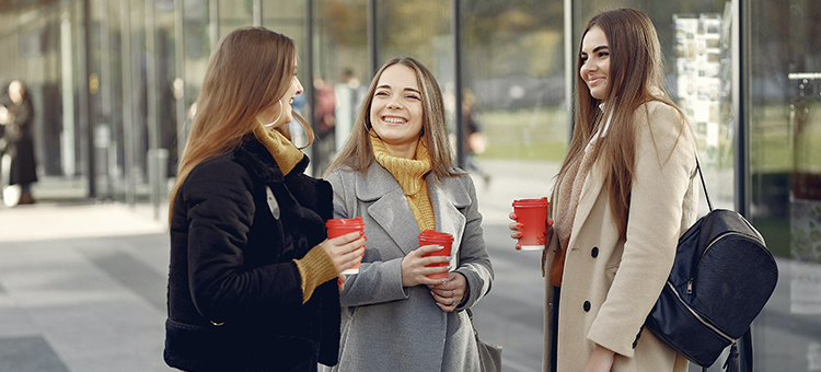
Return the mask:
{"type": "MultiPolygon", "coordinates": [[[[14,80],[9,84],[9,105],[0,108],[0,124],[3,128],[3,154],[10,161],[8,165],[8,185],[19,185],[20,194],[4,193],[5,197],[19,198],[4,200],[7,205],[30,205],[32,184],[37,182],[37,163],[34,158],[34,104],[25,84],[14,80]],[[9,196],[13,195],[13,196],[9,196]]],[[[9,162],[7,162],[9,163],[9,162]]]]}

